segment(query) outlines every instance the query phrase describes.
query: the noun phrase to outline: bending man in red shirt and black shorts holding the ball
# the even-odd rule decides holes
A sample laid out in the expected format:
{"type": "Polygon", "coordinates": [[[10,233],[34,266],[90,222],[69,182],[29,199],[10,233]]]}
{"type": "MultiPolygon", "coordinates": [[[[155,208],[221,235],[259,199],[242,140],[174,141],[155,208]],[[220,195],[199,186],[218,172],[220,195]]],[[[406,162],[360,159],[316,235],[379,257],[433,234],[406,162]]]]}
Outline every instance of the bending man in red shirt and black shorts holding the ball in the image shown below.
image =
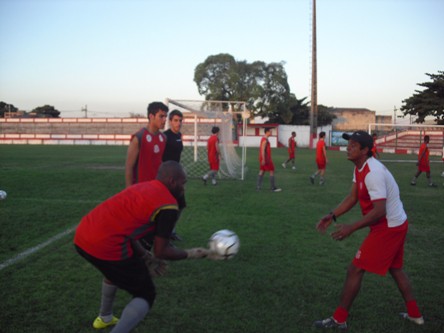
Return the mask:
{"type": "Polygon", "coordinates": [[[127,187],[82,218],[74,236],[75,247],[104,276],[94,328],[117,325],[116,331],[129,332],[146,316],[156,296],[151,274],[165,269],[160,260],[217,259],[205,248],[182,250],[170,244],[179,217],[177,199],[184,194],[185,182],[179,163],[164,162],[155,180],[127,187]],[[154,257],[139,243],[147,236],[153,239],[154,257]],[[118,288],[133,296],[120,320],[113,315],[118,288]]]}

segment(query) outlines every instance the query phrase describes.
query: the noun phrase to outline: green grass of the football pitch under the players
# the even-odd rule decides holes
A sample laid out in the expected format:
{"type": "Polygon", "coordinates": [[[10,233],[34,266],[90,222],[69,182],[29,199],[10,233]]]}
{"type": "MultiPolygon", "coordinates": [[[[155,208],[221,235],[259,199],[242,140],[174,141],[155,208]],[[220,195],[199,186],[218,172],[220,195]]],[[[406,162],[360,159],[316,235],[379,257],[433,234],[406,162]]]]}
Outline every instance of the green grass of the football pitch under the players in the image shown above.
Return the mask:
{"type": "MultiPolygon", "coordinates": [[[[326,185],[311,185],[314,152],[300,149],[297,170],[282,169],[285,149],[274,149],[277,185],[268,175],[255,191],[257,149],[248,149],[244,181],[221,180],[203,186],[187,183],[187,204],[177,231],[178,246],[205,246],[219,229],[241,240],[233,260],[170,263],[156,280],[158,296],[149,316],[134,332],[286,333],[314,331],[312,322],[331,315],[348,264],[367,231],[343,242],[319,235],[317,220],[351,187],[353,165],[345,153],[329,151],[326,185]]],[[[126,147],[0,145],[0,263],[75,226],[102,200],[124,187],[126,147]]],[[[412,160],[414,156],[383,155],[412,160]]],[[[435,160],[438,160],[435,158],[435,160]]],[[[409,216],[405,270],[426,325],[416,327],[397,316],[401,296],[387,277],[367,274],[349,317],[352,332],[442,332],[444,330],[444,187],[441,163],[432,163],[438,188],[425,176],[409,185],[414,163],[387,162],[397,179],[409,216]]],[[[340,218],[360,216],[356,207],[340,218]]],[[[100,274],[78,256],[67,235],[0,270],[0,332],[92,332],[100,304],[100,274]]],[[[130,299],[120,291],[115,314],[130,299]]],[[[108,332],[105,330],[104,332],[108,332]]]]}

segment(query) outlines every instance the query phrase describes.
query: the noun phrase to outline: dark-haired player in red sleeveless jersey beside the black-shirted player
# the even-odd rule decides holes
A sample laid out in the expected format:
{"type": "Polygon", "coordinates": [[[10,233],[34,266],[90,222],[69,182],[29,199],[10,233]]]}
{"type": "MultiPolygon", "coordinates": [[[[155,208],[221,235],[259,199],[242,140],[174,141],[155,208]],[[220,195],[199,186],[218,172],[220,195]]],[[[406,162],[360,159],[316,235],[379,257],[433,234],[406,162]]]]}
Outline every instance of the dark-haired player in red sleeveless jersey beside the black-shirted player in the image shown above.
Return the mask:
{"type": "Polygon", "coordinates": [[[150,103],[148,126],[131,136],[125,164],[127,187],[156,178],[166,145],[166,137],[160,130],[165,127],[167,113],[165,104],[150,103]]]}

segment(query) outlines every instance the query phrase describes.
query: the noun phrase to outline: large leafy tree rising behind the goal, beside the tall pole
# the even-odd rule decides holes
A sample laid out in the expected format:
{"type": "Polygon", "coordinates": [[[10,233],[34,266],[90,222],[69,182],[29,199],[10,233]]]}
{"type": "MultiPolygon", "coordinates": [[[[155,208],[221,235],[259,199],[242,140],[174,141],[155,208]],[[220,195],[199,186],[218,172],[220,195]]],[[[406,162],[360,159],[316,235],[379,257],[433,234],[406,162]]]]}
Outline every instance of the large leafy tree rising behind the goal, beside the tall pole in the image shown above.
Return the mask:
{"type": "MultiPolygon", "coordinates": [[[[252,116],[268,117],[268,123],[307,125],[306,97],[290,92],[284,62],[236,61],[230,54],[209,56],[194,70],[194,82],[206,100],[246,101],[252,116]]],[[[327,107],[318,107],[318,124],[331,124],[327,107]]]]}

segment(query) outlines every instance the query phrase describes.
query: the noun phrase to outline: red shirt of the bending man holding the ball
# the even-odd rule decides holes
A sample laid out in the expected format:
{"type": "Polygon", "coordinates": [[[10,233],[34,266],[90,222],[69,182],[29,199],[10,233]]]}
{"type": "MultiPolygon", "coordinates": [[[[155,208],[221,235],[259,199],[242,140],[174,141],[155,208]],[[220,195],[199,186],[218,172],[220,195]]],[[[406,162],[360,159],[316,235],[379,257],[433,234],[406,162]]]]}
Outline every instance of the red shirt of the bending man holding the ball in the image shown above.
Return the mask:
{"type": "Polygon", "coordinates": [[[74,243],[101,260],[132,257],[131,242],[156,234],[155,218],[161,210],[178,210],[177,201],[158,180],[132,185],[85,215],[74,243]]]}

